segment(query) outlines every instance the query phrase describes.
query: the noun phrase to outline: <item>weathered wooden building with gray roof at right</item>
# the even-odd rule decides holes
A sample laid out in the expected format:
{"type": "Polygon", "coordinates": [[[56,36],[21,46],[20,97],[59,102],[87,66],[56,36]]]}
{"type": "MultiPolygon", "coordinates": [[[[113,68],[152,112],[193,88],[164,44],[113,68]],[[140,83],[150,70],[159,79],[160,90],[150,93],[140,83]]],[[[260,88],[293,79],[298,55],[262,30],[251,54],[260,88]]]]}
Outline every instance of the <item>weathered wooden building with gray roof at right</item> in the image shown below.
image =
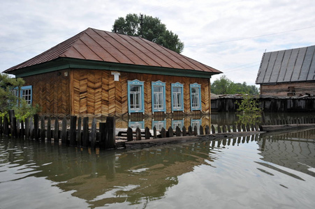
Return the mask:
{"type": "Polygon", "coordinates": [[[256,84],[261,95],[315,94],[315,46],[263,54],[256,84]]]}

